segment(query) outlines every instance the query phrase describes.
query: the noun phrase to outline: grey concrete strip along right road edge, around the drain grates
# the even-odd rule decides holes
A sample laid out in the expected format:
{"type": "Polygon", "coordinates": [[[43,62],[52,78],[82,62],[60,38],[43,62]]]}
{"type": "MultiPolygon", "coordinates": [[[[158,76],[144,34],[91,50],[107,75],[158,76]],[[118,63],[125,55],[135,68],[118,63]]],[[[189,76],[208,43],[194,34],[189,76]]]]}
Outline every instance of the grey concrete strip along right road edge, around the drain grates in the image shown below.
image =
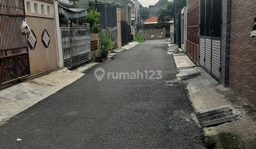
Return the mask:
{"type": "MultiPolygon", "coordinates": [[[[170,45],[174,46],[174,45],[170,45]]],[[[187,55],[173,55],[177,68],[195,66],[187,55]]],[[[195,113],[230,106],[239,114],[239,119],[226,122],[218,126],[203,128],[209,140],[215,139],[217,147],[223,147],[228,141],[234,142],[245,148],[255,148],[256,145],[256,111],[236,95],[230,88],[219,84],[201,67],[194,67],[178,72],[177,80],[187,84],[190,100],[195,113]],[[187,80],[181,80],[181,76],[192,73],[201,73],[187,80]],[[224,140],[224,138],[229,140],[224,140]]],[[[194,114],[192,114],[194,115],[194,114]]],[[[193,119],[196,118],[192,116],[193,119]]],[[[199,124],[198,124],[199,126],[199,124]]],[[[200,127],[200,126],[199,126],[200,127]]]]}

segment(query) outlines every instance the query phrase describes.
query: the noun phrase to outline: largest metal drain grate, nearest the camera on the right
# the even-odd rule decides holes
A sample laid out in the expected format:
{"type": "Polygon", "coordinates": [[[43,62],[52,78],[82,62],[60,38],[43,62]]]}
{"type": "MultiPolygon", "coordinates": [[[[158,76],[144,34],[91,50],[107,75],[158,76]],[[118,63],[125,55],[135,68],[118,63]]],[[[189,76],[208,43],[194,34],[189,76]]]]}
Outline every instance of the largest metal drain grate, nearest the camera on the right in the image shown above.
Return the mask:
{"type": "Polygon", "coordinates": [[[238,116],[229,107],[224,107],[204,113],[196,114],[201,127],[208,127],[233,120],[238,120],[238,116]]]}

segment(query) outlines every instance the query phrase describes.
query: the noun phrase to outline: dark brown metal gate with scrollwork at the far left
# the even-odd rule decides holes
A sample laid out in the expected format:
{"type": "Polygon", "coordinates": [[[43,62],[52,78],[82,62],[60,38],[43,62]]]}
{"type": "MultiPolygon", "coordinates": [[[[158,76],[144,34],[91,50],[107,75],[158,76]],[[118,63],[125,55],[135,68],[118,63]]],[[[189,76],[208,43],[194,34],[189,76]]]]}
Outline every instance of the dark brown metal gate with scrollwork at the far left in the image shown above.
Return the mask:
{"type": "Polygon", "coordinates": [[[24,0],[0,0],[0,87],[30,75],[24,0]]]}

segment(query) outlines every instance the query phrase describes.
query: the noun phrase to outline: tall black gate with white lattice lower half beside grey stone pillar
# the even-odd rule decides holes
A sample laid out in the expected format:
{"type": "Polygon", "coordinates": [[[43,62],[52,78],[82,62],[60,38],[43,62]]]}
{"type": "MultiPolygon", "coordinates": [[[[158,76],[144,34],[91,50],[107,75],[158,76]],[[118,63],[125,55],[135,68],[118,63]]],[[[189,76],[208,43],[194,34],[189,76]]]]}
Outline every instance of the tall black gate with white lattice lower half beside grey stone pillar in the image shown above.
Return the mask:
{"type": "Polygon", "coordinates": [[[200,0],[199,65],[220,81],[222,0],[200,0]]]}

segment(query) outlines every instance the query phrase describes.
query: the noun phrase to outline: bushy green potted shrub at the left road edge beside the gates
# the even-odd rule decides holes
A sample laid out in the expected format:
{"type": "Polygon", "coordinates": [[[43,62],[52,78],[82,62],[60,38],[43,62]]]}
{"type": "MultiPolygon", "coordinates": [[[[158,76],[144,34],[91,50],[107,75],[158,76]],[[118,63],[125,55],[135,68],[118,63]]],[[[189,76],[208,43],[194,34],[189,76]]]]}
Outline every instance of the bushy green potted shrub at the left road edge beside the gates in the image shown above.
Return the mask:
{"type": "Polygon", "coordinates": [[[100,56],[107,59],[108,51],[112,50],[112,41],[108,37],[108,32],[101,30],[100,32],[100,56]]]}

